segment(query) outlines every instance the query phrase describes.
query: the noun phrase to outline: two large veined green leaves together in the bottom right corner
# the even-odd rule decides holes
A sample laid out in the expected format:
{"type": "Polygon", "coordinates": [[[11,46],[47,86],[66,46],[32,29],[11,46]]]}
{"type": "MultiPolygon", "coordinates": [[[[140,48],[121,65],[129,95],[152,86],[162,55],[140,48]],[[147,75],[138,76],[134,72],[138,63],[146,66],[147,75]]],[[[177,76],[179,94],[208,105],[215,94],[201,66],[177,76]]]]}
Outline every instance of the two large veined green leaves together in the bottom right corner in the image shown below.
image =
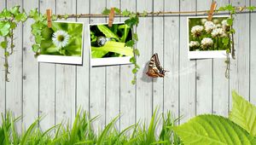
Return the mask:
{"type": "Polygon", "coordinates": [[[184,144],[255,144],[256,107],[232,91],[230,118],[205,114],[172,127],[184,144]]]}

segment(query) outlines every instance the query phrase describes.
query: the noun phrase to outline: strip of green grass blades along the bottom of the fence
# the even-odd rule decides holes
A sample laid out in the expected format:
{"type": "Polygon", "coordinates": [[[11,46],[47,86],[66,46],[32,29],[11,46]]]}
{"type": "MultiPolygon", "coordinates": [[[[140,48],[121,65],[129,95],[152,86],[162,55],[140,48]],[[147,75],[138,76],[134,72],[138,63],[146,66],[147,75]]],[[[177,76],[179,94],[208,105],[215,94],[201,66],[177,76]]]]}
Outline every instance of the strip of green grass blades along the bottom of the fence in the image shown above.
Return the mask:
{"type": "MultiPolygon", "coordinates": [[[[165,116],[162,114],[162,116],[165,116]]],[[[163,131],[161,131],[160,137],[155,135],[156,127],[159,124],[160,116],[157,115],[157,110],[154,111],[152,119],[148,127],[143,124],[131,125],[125,128],[123,131],[118,131],[115,127],[116,121],[119,116],[115,117],[106,127],[95,133],[92,129],[93,122],[97,117],[90,119],[89,114],[81,112],[80,109],[73,120],[73,126],[67,124],[55,125],[50,127],[49,130],[41,131],[38,126],[38,122],[41,119],[36,119],[32,125],[28,127],[26,131],[22,131],[19,135],[15,129],[15,124],[20,118],[15,119],[11,113],[7,113],[6,117],[3,117],[0,125],[0,144],[3,145],[26,145],[26,144],[38,144],[38,145],[149,145],[149,144],[170,144],[181,145],[175,141],[175,136],[170,127],[177,124],[177,119],[171,117],[171,113],[168,112],[167,118],[162,118],[165,123],[162,125],[163,131]],[[172,121],[172,124],[170,124],[172,121]],[[168,126],[167,126],[168,125],[168,126]],[[128,132],[129,131],[129,132],[128,132]],[[163,137],[165,136],[165,137],[163,137]],[[169,136],[169,137],[168,137],[169,136]]]]}

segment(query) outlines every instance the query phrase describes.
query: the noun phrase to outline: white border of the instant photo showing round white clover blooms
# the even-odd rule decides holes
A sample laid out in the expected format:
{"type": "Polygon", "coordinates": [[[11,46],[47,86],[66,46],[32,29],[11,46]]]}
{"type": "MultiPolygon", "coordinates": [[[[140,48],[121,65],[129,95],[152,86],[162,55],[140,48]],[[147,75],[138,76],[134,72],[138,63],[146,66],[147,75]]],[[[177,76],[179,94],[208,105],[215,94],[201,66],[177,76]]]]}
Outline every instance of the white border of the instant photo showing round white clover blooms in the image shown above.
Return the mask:
{"type": "MultiPolygon", "coordinates": [[[[189,51],[189,19],[191,18],[207,18],[208,16],[189,16],[187,17],[187,34],[188,34],[188,58],[193,59],[207,59],[207,58],[226,58],[226,50],[212,50],[212,51],[189,51]]],[[[230,18],[230,15],[214,15],[212,18],[230,18]]]]}

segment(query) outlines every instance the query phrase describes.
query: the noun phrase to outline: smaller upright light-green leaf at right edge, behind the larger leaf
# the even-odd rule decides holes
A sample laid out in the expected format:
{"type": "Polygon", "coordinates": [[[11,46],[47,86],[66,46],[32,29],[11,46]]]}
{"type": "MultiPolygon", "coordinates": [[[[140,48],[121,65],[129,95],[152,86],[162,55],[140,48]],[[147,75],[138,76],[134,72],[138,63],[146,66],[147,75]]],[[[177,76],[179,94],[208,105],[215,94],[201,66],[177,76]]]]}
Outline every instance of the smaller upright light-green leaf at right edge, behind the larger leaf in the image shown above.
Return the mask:
{"type": "Polygon", "coordinates": [[[239,96],[236,91],[232,91],[232,98],[230,119],[251,135],[256,136],[256,107],[239,96]]]}

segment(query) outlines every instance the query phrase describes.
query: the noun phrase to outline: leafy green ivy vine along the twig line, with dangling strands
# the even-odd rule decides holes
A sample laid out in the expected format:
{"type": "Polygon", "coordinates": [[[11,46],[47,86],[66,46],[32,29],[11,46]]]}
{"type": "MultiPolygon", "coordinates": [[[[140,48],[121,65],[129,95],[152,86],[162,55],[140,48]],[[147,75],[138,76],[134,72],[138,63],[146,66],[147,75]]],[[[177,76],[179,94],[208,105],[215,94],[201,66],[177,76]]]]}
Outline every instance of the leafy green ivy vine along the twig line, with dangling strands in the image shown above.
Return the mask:
{"type": "MultiPolygon", "coordinates": [[[[234,33],[236,32],[233,28],[233,21],[234,17],[233,14],[242,13],[243,11],[253,11],[256,9],[255,6],[249,7],[234,7],[232,5],[227,5],[224,7],[220,7],[218,10],[215,10],[215,13],[220,12],[230,12],[230,19],[227,20],[228,24],[230,25],[230,39],[224,39],[223,43],[227,46],[227,60],[225,61],[227,64],[226,67],[226,78],[230,78],[230,55],[233,59],[235,59],[235,48],[234,48],[234,33]]],[[[67,18],[89,18],[89,17],[106,17],[108,16],[110,9],[104,9],[102,14],[53,14],[52,20],[58,19],[67,19],[67,18]]],[[[135,28],[139,23],[139,17],[141,16],[151,16],[151,15],[166,15],[166,14],[207,14],[207,10],[203,11],[184,11],[184,12],[147,12],[143,11],[143,13],[135,13],[125,9],[121,11],[120,9],[115,8],[115,14],[117,16],[128,17],[125,20],[125,24],[135,28]]],[[[35,52],[35,55],[40,55],[40,44],[43,40],[41,34],[44,32],[44,28],[47,26],[46,15],[41,14],[38,12],[38,9],[32,9],[29,15],[26,14],[24,10],[20,12],[20,6],[15,6],[11,9],[3,9],[0,13],[0,36],[3,38],[3,41],[0,43],[1,47],[4,49],[4,68],[5,68],[5,80],[9,81],[8,74],[9,74],[9,62],[8,58],[9,55],[14,53],[14,30],[18,23],[25,22],[27,18],[32,18],[34,23],[32,24],[32,34],[35,37],[35,44],[32,44],[32,50],[35,52]]],[[[134,30],[134,29],[133,29],[134,30]]],[[[139,49],[135,48],[135,45],[138,41],[137,33],[132,31],[132,40],[128,41],[125,46],[132,47],[134,56],[131,57],[131,63],[134,64],[134,68],[132,69],[132,73],[134,73],[134,78],[132,79],[131,83],[136,84],[136,73],[139,70],[139,65],[137,64],[137,56],[140,55],[139,49]]]]}

